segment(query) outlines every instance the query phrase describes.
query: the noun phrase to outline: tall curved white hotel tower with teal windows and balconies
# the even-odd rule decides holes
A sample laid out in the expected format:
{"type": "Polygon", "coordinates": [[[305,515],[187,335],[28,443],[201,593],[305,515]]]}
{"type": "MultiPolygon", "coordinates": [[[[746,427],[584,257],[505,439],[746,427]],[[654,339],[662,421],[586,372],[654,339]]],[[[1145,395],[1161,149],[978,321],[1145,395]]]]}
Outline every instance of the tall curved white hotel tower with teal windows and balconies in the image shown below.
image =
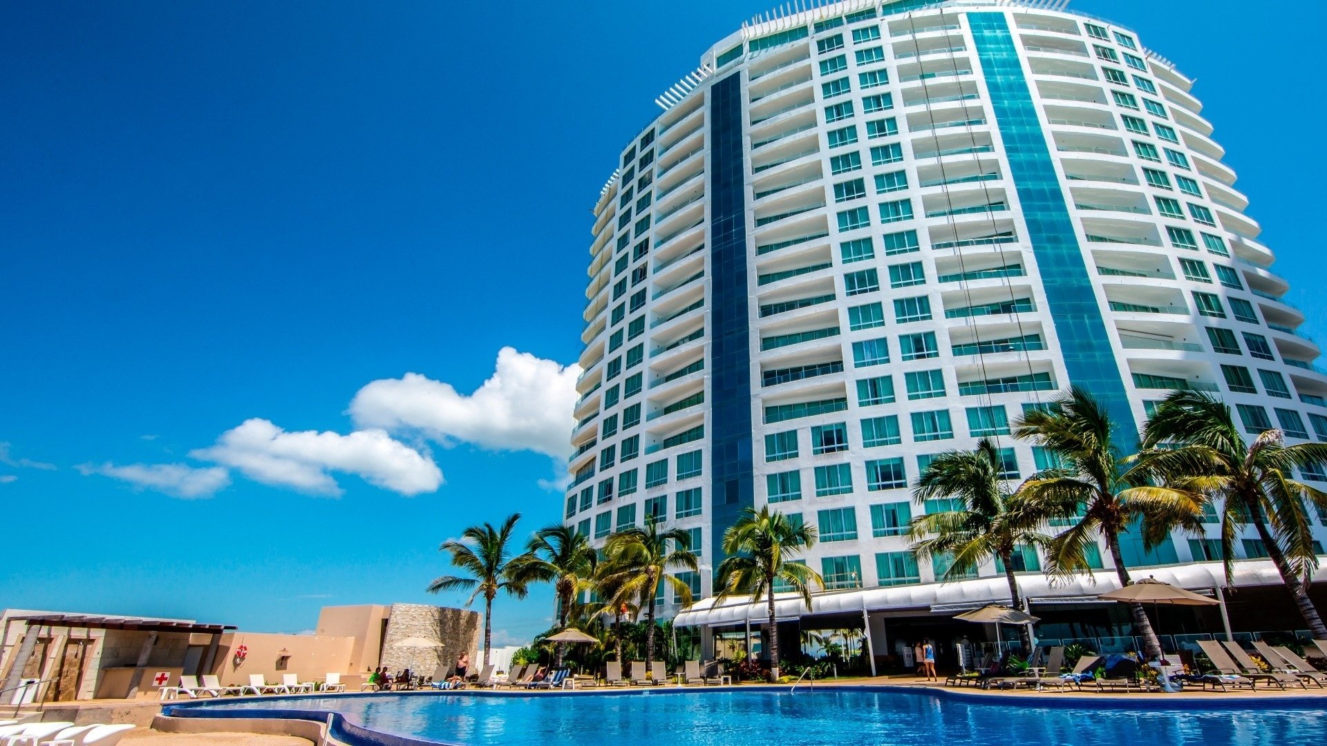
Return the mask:
{"type": "MultiPolygon", "coordinates": [[[[1063,7],[755,19],[658,100],[593,210],[567,524],[689,530],[705,597],[723,531],[772,504],[819,528],[828,589],[925,585],[945,561],[901,532],[947,506],[909,485],[979,438],[1013,483],[1046,466],[1010,422],[1071,384],[1125,447],[1174,389],[1327,439],[1318,345],[1192,81],[1063,7]]],[[[1213,559],[1210,528],[1127,563],[1213,559]]]]}

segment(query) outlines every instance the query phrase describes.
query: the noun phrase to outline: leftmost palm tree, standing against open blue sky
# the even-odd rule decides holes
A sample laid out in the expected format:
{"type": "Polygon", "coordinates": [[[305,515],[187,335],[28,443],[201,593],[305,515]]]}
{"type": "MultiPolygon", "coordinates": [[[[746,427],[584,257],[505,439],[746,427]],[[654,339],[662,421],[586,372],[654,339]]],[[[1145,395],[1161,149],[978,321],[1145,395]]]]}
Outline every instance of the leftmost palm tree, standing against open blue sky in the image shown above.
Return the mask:
{"type": "Polygon", "coordinates": [[[443,575],[434,579],[426,591],[439,593],[442,591],[468,591],[470,599],[466,608],[475,603],[475,599],[484,597],[484,665],[488,665],[488,648],[492,642],[494,599],[499,591],[506,591],[508,596],[525,597],[528,581],[519,576],[520,561],[514,564],[515,558],[510,556],[508,544],[511,532],[520,520],[520,514],[514,512],[507,516],[500,528],[494,528],[491,523],[471,526],[460,532],[460,540],[443,542],[438,547],[439,552],[451,555],[453,567],[458,567],[470,573],[470,577],[459,575],[443,575]]]}

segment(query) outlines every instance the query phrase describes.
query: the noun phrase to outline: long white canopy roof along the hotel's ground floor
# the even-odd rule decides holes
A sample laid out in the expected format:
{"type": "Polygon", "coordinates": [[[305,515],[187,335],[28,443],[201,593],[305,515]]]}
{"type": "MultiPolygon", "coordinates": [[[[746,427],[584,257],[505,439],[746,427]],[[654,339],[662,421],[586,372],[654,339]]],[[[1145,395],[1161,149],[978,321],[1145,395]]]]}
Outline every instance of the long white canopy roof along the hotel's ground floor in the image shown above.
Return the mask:
{"type": "MultiPolygon", "coordinates": [[[[1192,564],[1172,564],[1165,567],[1135,568],[1135,579],[1151,575],[1180,588],[1201,591],[1204,588],[1227,587],[1225,569],[1220,561],[1192,564]]],[[[1327,564],[1314,572],[1315,581],[1327,580],[1327,564]]],[[[1068,580],[1052,580],[1046,575],[1020,575],[1019,591],[1036,603],[1047,604],[1085,603],[1108,591],[1120,588],[1120,580],[1113,571],[1097,571],[1095,575],[1076,575],[1068,580]]],[[[1231,587],[1279,585],[1281,575],[1270,560],[1242,560],[1234,567],[1231,587]]],[[[861,613],[867,611],[914,609],[926,613],[966,611],[989,603],[1009,603],[1009,581],[1003,576],[978,577],[955,583],[926,583],[924,585],[892,585],[884,588],[861,588],[855,591],[831,591],[811,596],[807,609],[802,597],[795,593],[775,596],[775,617],[780,621],[808,615],[861,613]]],[[[1103,601],[1104,603],[1104,601],[1103,601]]],[[[703,599],[673,619],[677,627],[717,627],[763,621],[767,617],[764,601],[751,604],[746,600],[730,599],[715,607],[714,599],[703,599]]]]}

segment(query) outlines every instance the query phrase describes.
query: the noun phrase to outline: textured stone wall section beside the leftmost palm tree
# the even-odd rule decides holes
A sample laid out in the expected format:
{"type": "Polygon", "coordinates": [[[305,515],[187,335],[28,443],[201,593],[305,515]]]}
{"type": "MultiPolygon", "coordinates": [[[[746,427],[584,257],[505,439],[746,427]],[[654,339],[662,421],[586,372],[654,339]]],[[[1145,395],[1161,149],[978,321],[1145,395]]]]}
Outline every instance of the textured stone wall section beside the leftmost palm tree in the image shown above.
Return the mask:
{"type": "Polygon", "coordinates": [[[425,604],[391,604],[387,636],[380,664],[393,673],[409,668],[415,674],[431,676],[439,664],[450,673],[462,650],[470,653],[471,672],[478,673],[479,612],[430,607],[425,604]],[[422,637],[439,642],[438,648],[403,648],[402,640],[422,637]]]}

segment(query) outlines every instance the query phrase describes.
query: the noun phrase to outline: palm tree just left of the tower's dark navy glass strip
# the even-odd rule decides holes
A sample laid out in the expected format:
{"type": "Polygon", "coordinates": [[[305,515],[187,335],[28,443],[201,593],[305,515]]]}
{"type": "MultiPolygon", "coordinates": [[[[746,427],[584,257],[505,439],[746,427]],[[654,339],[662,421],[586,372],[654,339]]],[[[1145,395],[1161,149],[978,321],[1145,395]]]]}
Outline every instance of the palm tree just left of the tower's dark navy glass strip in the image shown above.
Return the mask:
{"type": "Polygon", "coordinates": [[[654,599],[660,584],[671,587],[691,605],[691,588],[669,575],[670,569],[698,569],[691,536],[681,528],[660,528],[660,522],[648,519],[644,528],[626,528],[608,538],[604,544],[612,571],[602,579],[614,588],[612,603],[618,605],[636,600],[645,607],[645,668],[654,662],[654,599]],[[671,543],[673,550],[669,551],[671,543]]]}

